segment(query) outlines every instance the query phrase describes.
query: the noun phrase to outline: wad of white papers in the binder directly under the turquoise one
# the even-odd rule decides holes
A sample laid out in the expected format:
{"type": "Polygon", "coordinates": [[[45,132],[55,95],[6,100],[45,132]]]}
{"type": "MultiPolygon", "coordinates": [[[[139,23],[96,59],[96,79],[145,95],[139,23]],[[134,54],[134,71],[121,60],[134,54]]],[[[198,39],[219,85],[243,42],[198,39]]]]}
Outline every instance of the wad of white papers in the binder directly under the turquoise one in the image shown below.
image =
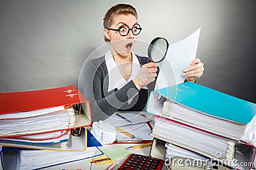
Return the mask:
{"type": "Polygon", "coordinates": [[[164,141],[190,150],[196,150],[198,153],[211,157],[215,157],[216,153],[222,155],[221,159],[233,160],[235,157],[236,143],[234,141],[162,117],[155,117],[153,135],[156,138],[164,139],[164,141]]]}

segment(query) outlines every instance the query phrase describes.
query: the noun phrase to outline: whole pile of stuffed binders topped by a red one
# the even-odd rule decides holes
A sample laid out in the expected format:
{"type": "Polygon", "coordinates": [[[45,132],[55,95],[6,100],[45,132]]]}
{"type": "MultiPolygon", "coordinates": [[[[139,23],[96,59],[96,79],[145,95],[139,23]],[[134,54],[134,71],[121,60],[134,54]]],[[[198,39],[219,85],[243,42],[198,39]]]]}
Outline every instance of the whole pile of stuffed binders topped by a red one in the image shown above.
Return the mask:
{"type": "Polygon", "coordinates": [[[86,130],[92,125],[90,104],[76,87],[2,93],[0,103],[4,169],[38,169],[102,154],[88,148],[100,144],[86,130]]]}

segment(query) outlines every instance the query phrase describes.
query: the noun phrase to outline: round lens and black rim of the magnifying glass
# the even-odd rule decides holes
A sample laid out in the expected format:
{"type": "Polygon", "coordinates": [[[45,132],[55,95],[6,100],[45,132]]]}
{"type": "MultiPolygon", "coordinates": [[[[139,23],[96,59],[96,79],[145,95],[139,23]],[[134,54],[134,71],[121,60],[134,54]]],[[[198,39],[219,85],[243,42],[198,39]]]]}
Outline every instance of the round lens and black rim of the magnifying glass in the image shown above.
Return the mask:
{"type": "Polygon", "coordinates": [[[148,57],[152,62],[161,62],[164,60],[169,43],[165,38],[154,38],[148,46],[148,57]]]}

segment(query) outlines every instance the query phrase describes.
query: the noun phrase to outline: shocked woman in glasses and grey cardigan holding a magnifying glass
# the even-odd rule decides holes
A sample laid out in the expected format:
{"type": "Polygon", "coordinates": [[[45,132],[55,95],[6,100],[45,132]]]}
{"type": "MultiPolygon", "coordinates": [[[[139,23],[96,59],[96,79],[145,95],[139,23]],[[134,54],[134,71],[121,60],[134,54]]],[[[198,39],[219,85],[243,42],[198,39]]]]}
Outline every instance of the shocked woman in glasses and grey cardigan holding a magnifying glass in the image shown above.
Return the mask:
{"type": "MultiPolygon", "coordinates": [[[[104,16],[104,39],[110,50],[84,68],[84,96],[90,102],[93,121],[104,120],[117,110],[141,111],[154,89],[158,67],[132,52],[141,27],[129,4],[116,4],[104,16]]],[[[202,76],[204,64],[194,59],[182,75],[186,81],[202,76]]]]}

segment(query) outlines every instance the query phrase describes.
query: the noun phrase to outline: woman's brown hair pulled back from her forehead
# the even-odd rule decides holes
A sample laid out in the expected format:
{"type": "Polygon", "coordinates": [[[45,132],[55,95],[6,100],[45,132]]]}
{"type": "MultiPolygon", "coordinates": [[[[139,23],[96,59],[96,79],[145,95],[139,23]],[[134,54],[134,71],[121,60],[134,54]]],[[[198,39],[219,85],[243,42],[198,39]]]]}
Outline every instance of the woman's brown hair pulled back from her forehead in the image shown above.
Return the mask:
{"type": "MultiPolygon", "coordinates": [[[[134,15],[134,17],[136,17],[136,19],[138,18],[138,14],[136,9],[131,6],[130,4],[116,4],[115,6],[112,6],[106,13],[106,15],[104,15],[103,18],[103,25],[104,25],[104,29],[108,29],[110,27],[110,25],[113,22],[113,17],[115,15],[134,15]]],[[[106,38],[106,36],[104,36],[104,40],[108,43],[109,39],[106,38]]]]}

